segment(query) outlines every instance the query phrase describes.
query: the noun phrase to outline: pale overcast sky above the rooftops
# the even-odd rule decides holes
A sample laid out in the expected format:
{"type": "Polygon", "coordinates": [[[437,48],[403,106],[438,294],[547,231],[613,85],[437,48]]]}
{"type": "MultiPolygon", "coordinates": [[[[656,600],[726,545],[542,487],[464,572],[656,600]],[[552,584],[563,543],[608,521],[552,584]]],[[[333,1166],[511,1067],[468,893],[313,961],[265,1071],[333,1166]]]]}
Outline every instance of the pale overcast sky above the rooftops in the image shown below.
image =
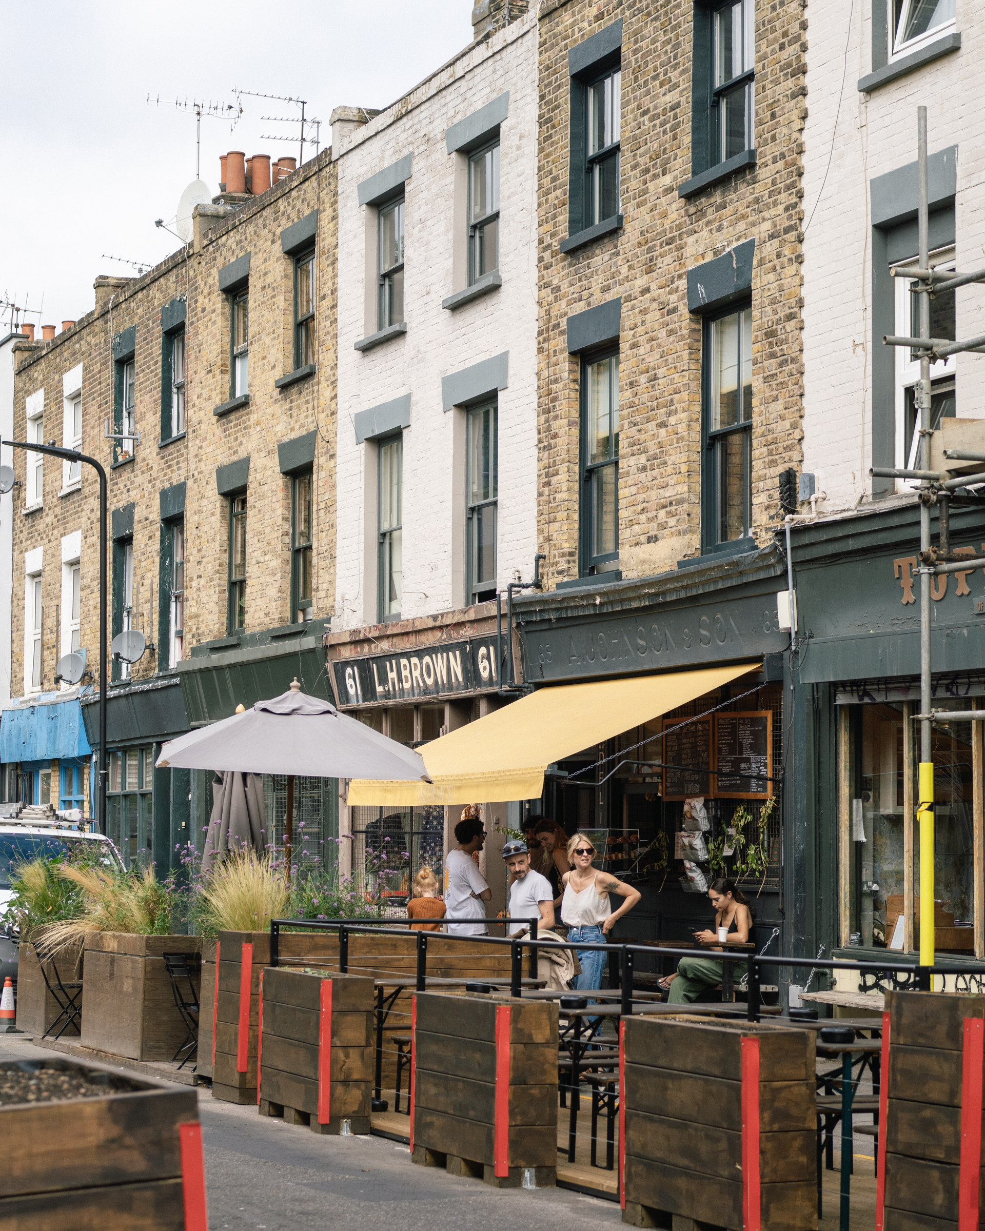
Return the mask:
{"type": "MultiPolygon", "coordinates": [[[[195,180],[195,116],[176,111],[176,98],[229,103],[234,87],[307,98],[329,145],[334,107],[400,97],[470,41],[470,14],[472,0],[5,5],[0,297],[28,309],[43,299],[41,315],[21,319],[60,330],[94,307],[97,275],[137,273],[103,254],[154,265],[181,246],[154,227],[174,227],[195,180]]],[[[261,117],[299,107],[241,101],[231,133],[228,122],[202,121],[202,178],[213,193],[229,149],[298,154],[299,126],[261,117]]],[[[0,311],[0,335],[9,321],[0,311]]]]}

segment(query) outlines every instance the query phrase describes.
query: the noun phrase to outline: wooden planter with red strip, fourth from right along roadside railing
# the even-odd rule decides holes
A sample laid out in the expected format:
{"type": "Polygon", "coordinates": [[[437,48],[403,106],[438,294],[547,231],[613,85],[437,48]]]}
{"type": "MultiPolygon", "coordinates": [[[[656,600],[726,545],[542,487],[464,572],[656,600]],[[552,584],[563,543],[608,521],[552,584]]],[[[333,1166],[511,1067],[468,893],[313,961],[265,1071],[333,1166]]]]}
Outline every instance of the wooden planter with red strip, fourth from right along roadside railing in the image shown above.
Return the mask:
{"type": "Polygon", "coordinates": [[[267,968],[260,1024],[261,1115],[313,1133],[369,1131],[372,979],[267,968]]]}

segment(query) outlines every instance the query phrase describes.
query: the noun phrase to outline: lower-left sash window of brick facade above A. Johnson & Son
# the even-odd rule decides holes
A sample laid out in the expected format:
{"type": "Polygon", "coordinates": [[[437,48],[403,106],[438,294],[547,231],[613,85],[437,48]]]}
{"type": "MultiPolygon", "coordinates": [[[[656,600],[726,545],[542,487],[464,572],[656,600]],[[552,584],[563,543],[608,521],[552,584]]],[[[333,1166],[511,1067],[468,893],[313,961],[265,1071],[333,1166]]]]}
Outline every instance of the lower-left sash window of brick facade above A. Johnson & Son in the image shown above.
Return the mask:
{"type": "Polygon", "coordinates": [[[593,576],[619,559],[618,348],[582,357],[580,454],[580,572],[593,576]]]}

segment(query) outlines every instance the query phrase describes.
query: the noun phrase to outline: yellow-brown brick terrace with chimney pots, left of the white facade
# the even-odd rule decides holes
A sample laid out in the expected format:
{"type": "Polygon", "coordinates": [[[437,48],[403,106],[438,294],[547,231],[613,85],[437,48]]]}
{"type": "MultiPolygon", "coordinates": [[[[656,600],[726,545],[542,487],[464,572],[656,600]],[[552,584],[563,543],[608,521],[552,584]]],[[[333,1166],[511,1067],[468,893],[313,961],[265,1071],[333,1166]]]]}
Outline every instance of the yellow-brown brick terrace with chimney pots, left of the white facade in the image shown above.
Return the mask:
{"type": "MultiPolygon", "coordinates": [[[[14,343],[14,437],[79,447],[108,474],[111,635],[135,629],[148,643],[133,666],[112,662],[108,828],[131,862],[153,857],[159,874],[176,844],[201,847],[212,806],[207,773],[154,769],[160,742],[283,692],[296,675],[330,696],[331,151],[284,175],[262,191],[257,170],[256,196],[197,207],[186,247],[139,278],[98,278],[94,311],[49,341],[14,343]]],[[[97,481],[87,467],[23,451],[14,464],[20,696],[4,715],[4,758],[21,762],[23,798],[91,816],[97,481]],[[73,650],[87,651],[86,675],[66,693],[57,664],[73,650]],[[81,702],[85,730],[69,713],[46,725],[57,737],[38,735],[41,704],[59,702],[76,714],[81,702]]],[[[309,832],[323,820],[334,832],[334,785],[303,785],[302,810],[309,832]]]]}

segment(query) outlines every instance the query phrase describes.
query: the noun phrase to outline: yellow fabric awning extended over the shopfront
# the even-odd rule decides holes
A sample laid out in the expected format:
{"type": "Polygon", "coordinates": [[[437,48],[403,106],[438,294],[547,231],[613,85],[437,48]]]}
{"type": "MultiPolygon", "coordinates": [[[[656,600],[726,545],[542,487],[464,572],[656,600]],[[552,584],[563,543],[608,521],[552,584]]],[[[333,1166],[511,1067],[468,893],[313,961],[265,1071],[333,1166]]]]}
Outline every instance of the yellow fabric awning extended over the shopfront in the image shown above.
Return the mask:
{"type": "Polygon", "coordinates": [[[348,803],[495,804],[536,799],[555,761],[611,740],[755,670],[744,664],[666,676],[557,684],[459,726],[417,751],[432,784],[353,778],[348,803]]]}

